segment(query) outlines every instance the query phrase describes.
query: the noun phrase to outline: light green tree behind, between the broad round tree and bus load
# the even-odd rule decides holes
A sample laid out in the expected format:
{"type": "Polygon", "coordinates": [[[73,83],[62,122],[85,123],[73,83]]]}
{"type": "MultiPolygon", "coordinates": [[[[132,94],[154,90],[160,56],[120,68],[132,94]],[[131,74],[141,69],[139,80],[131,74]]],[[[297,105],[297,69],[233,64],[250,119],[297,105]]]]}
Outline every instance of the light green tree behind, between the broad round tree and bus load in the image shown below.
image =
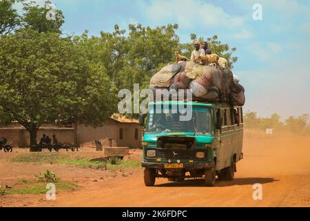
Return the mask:
{"type": "Polygon", "coordinates": [[[118,88],[147,87],[158,67],[174,60],[178,48],[177,25],[156,28],[130,24],[128,33],[114,26],[114,32],[88,37],[87,31],[74,41],[88,59],[102,64],[118,88]]]}

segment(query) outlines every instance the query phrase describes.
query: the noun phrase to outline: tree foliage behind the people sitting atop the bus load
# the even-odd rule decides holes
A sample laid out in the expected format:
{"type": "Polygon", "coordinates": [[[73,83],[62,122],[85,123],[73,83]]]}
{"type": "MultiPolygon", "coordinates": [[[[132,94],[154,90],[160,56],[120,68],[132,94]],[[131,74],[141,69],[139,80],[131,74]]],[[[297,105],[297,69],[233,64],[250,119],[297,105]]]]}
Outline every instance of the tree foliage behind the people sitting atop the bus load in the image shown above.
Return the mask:
{"type": "MultiPolygon", "coordinates": [[[[190,57],[194,50],[194,41],[206,41],[203,37],[197,38],[197,35],[191,34],[191,43],[180,44],[180,51],[186,57],[190,57]]],[[[213,54],[217,54],[220,57],[224,57],[228,61],[229,68],[234,68],[233,64],[238,61],[238,57],[233,57],[232,54],[236,52],[236,48],[230,48],[228,44],[222,44],[217,35],[207,38],[208,48],[213,54]]]]}

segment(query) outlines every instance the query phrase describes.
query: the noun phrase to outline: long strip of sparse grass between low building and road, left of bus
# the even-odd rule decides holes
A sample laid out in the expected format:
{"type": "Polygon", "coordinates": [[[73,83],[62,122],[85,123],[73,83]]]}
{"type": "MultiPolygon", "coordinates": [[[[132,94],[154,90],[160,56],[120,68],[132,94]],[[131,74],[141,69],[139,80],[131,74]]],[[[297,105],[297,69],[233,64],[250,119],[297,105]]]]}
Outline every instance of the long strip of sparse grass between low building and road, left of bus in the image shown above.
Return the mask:
{"type": "Polygon", "coordinates": [[[116,170],[116,169],[138,169],[140,162],[136,160],[120,160],[116,157],[110,157],[106,161],[90,161],[86,157],[77,157],[71,159],[70,155],[60,153],[25,153],[12,158],[12,162],[34,163],[34,164],[65,164],[70,166],[80,166],[82,168],[98,169],[98,170],[116,170]]]}

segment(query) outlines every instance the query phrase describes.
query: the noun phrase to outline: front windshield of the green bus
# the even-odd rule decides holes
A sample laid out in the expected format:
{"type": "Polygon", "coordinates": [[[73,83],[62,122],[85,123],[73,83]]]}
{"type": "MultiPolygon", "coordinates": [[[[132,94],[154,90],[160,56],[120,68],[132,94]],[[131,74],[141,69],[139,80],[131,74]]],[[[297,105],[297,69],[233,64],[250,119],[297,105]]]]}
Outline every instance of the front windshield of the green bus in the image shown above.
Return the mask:
{"type": "Polygon", "coordinates": [[[179,112],[175,113],[171,107],[169,110],[161,110],[155,113],[151,110],[147,119],[147,133],[170,133],[170,132],[190,132],[190,133],[210,133],[211,114],[207,107],[192,107],[192,118],[189,121],[180,121],[179,112]]]}

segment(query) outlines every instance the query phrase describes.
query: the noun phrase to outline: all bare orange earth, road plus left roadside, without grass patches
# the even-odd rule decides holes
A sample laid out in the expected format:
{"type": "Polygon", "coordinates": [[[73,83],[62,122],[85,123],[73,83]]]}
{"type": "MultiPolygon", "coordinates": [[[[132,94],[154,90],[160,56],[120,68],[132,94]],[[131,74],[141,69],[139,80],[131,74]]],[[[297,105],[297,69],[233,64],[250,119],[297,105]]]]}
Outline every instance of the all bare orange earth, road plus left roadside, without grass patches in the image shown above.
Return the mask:
{"type": "MultiPolygon", "coordinates": [[[[243,152],[245,158],[237,164],[235,180],[217,182],[213,188],[205,187],[203,180],[165,179],[146,187],[142,169],[99,171],[58,164],[23,164],[10,159],[25,150],[0,152],[2,186],[31,178],[44,169],[81,186],[76,191],[59,191],[55,201],[45,200],[44,194],[0,196],[0,206],[310,206],[310,137],[247,134],[243,152]],[[252,198],[255,183],[262,184],[262,200],[252,198]]],[[[101,156],[90,148],[70,154],[101,156]]],[[[141,150],[132,150],[129,157],[140,160],[141,150]]]]}

